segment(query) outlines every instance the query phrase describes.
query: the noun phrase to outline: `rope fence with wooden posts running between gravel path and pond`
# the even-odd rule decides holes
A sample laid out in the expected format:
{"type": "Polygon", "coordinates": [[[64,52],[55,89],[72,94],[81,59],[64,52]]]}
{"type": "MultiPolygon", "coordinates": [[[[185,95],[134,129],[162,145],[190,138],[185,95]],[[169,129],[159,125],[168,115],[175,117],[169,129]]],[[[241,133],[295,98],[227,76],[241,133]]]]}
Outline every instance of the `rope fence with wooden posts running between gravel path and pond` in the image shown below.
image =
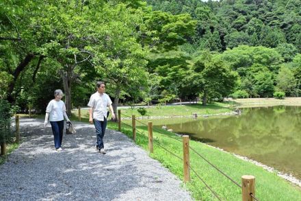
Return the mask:
{"type": "Polygon", "coordinates": [[[132,119],[132,125],[129,125],[128,123],[122,122],[121,121],[121,115],[125,116],[125,117],[129,117],[128,115],[125,114],[121,114],[121,111],[118,110],[118,130],[121,131],[121,124],[129,126],[131,128],[133,128],[133,139],[135,141],[135,132],[137,131],[139,134],[142,134],[144,136],[146,136],[144,131],[141,131],[140,129],[136,128],[135,122],[139,122],[144,126],[148,127],[148,150],[150,153],[153,153],[153,143],[156,143],[159,147],[161,147],[163,150],[166,150],[166,152],[168,152],[169,154],[171,154],[172,156],[175,156],[176,158],[179,158],[181,161],[183,161],[183,176],[184,176],[184,182],[189,182],[190,181],[190,169],[192,170],[192,172],[194,172],[194,174],[196,175],[196,177],[204,183],[204,185],[207,187],[207,189],[209,189],[209,191],[211,191],[211,193],[213,194],[213,196],[215,196],[215,198],[217,198],[218,200],[222,200],[220,198],[220,196],[218,196],[218,193],[216,193],[206,182],[205,180],[203,180],[200,175],[196,172],[196,170],[194,168],[192,168],[192,166],[189,163],[189,150],[192,150],[192,152],[194,152],[197,156],[199,156],[200,158],[202,158],[204,161],[206,161],[209,165],[211,165],[211,167],[213,167],[214,169],[216,169],[218,172],[220,172],[220,174],[224,175],[226,178],[228,178],[228,180],[231,180],[231,182],[233,182],[237,187],[239,187],[241,189],[241,196],[242,196],[242,200],[243,201],[247,201],[247,200],[259,200],[258,198],[255,197],[255,178],[254,176],[248,176],[248,175],[244,175],[241,176],[241,185],[239,185],[238,182],[236,182],[235,180],[233,180],[233,178],[231,178],[230,176],[228,176],[227,174],[225,174],[224,172],[222,172],[221,169],[219,169],[218,167],[216,167],[215,165],[213,165],[213,163],[211,163],[209,160],[207,160],[207,158],[205,158],[204,156],[202,156],[200,153],[198,153],[193,147],[189,146],[189,136],[187,135],[183,135],[182,136],[182,141],[180,139],[176,139],[175,137],[171,137],[166,133],[163,133],[162,130],[159,130],[157,128],[153,128],[153,122],[148,121],[148,123],[144,123],[142,121],[139,121],[138,119],[135,118],[135,115],[133,115],[132,117],[129,117],[132,119]],[[181,158],[180,156],[177,156],[176,154],[174,154],[173,152],[171,152],[170,150],[168,150],[166,147],[163,147],[163,145],[161,145],[160,141],[157,139],[153,139],[153,130],[155,130],[156,132],[159,132],[160,134],[163,134],[164,137],[169,137],[170,139],[173,139],[175,141],[179,141],[181,143],[183,143],[183,158],[181,158]]]}

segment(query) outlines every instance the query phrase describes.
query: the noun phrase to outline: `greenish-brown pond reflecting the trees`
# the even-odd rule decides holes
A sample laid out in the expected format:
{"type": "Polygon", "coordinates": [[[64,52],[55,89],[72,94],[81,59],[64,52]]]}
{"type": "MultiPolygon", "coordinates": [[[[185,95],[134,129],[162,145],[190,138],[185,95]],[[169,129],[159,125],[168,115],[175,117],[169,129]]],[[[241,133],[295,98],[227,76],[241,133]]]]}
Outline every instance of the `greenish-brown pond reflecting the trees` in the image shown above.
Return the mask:
{"type": "Polygon", "coordinates": [[[301,179],[301,107],[244,108],[234,116],[152,121],[301,179]]]}

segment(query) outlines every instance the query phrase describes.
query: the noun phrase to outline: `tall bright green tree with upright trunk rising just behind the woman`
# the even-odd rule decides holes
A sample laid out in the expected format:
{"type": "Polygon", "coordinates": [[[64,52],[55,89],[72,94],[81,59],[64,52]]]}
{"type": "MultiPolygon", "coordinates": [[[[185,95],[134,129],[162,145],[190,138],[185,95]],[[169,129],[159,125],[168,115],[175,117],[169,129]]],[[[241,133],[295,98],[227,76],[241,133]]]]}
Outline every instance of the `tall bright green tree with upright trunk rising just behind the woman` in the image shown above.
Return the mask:
{"type": "Polygon", "coordinates": [[[60,63],[68,115],[72,109],[71,86],[79,79],[77,68],[85,62],[88,64],[92,57],[92,52],[88,51],[90,44],[99,43],[91,30],[97,28],[92,20],[93,9],[100,8],[101,4],[96,6],[93,1],[88,5],[79,1],[49,1],[29,24],[34,27],[30,29],[32,34],[44,42],[36,51],[60,63]]]}

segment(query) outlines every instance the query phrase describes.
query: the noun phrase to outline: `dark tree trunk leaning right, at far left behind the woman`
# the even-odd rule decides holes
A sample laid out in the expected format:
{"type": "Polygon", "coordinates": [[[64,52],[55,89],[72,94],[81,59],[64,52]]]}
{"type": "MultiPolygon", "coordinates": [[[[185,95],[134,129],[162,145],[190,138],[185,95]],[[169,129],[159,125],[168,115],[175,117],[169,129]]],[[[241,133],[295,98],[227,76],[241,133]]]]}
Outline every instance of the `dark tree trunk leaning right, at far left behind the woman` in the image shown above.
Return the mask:
{"type": "Polygon", "coordinates": [[[18,64],[18,67],[14,70],[14,73],[12,74],[14,76],[14,80],[10,83],[10,86],[8,88],[8,102],[12,103],[14,102],[14,97],[12,96],[12,91],[14,91],[14,86],[16,84],[16,80],[18,79],[18,75],[27,67],[29,62],[34,58],[34,54],[27,54],[25,58],[18,64]]]}

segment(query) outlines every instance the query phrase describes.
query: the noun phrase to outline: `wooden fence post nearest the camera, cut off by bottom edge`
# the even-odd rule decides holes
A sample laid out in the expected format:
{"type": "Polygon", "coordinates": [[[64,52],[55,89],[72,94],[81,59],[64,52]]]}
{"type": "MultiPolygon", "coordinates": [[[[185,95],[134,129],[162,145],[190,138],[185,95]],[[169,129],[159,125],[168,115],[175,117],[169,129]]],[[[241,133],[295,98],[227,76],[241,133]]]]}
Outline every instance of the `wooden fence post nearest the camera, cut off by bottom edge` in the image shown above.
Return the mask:
{"type": "Polygon", "coordinates": [[[252,175],[241,176],[241,193],[242,201],[253,201],[254,199],[250,196],[252,193],[255,196],[255,177],[252,175]]]}

